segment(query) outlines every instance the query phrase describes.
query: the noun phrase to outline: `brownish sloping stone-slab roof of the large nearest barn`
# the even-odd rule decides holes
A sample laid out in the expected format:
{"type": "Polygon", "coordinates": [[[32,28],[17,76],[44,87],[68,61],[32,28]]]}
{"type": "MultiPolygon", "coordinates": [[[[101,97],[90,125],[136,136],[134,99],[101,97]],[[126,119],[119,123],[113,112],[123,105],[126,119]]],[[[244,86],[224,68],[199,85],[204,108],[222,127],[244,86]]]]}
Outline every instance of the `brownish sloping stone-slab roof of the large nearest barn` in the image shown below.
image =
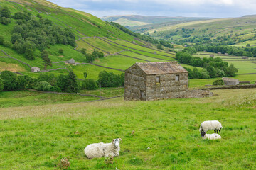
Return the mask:
{"type": "Polygon", "coordinates": [[[135,63],[146,74],[187,73],[178,62],[137,62],[135,63]]]}

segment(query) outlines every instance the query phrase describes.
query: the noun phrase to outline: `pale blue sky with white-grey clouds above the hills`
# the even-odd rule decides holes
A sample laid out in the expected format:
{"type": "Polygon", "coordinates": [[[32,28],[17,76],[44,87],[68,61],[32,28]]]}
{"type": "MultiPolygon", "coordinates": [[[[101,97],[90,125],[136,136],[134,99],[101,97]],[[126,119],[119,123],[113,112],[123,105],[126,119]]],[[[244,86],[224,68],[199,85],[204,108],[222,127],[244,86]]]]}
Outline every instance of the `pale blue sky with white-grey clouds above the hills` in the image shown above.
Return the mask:
{"type": "Polygon", "coordinates": [[[239,17],[256,14],[256,0],[48,0],[94,16],[239,17]]]}

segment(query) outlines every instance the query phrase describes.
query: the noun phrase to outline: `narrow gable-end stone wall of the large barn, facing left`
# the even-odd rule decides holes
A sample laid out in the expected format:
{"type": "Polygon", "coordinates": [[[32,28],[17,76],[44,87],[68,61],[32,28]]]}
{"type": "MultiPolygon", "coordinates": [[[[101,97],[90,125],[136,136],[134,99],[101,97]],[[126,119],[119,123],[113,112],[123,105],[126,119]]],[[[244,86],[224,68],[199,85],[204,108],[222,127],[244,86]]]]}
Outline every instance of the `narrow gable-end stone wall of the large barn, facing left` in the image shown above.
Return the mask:
{"type": "Polygon", "coordinates": [[[146,74],[136,64],[125,72],[124,99],[146,100],[146,74]]]}

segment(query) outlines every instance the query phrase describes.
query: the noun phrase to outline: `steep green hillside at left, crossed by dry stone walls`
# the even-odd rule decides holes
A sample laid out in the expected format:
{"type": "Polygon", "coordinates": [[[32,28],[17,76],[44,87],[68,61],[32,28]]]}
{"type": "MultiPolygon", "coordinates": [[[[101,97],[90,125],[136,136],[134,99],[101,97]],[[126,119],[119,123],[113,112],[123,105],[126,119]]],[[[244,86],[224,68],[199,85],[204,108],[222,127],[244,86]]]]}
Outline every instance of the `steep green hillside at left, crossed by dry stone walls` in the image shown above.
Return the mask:
{"type": "MultiPolygon", "coordinates": [[[[38,48],[33,52],[35,59],[28,60],[24,54],[19,54],[13,49],[14,45],[0,45],[0,65],[4,65],[0,72],[7,69],[12,72],[38,77],[39,74],[42,74],[42,71],[47,74],[58,75],[68,73],[69,70],[73,69],[80,79],[84,79],[84,72],[88,73],[88,78],[97,79],[97,75],[102,70],[120,74],[135,62],[175,60],[175,53],[169,52],[169,49],[158,50],[155,45],[138,39],[135,40],[131,35],[89,13],[71,8],[62,8],[43,0],[0,1],[1,8],[7,6],[11,10],[12,16],[19,11],[28,11],[34,20],[48,19],[53,26],[60,30],[68,28],[75,37],[75,47],[61,43],[47,45],[45,50],[48,51],[53,66],[48,66],[46,70],[43,70],[41,51],[38,48]],[[85,55],[80,51],[82,48],[85,48],[87,53],[98,50],[103,52],[105,57],[87,63],[85,55]],[[60,49],[63,50],[63,53],[59,52],[60,49]],[[67,63],[71,58],[75,60],[75,64],[67,63]],[[39,67],[41,72],[32,73],[31,67],[39,67]]],[[[16,22],[14,18],[11,18],[11,23],[7,26],[0,24],[0,36],[4,37],[4,40],[11,42],[12,31],[16,22]]]]}

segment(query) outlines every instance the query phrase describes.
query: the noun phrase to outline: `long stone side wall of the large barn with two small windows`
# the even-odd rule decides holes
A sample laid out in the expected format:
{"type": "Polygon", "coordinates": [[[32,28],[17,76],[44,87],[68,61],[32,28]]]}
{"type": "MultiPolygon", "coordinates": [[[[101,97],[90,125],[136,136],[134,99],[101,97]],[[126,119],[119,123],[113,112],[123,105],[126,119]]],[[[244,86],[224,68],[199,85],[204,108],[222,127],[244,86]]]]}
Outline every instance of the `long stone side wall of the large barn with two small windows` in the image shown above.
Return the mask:
{"type": "Polygon", "coordinates": [[[155,74],[146,77],[146,100],[161,98],[187,98],[188,73],[155,74]],[[179,75],[179,81],[176,81],[179,75]],[[156,83],[156,77],[160,77],[160,83],[156,83]]]}

